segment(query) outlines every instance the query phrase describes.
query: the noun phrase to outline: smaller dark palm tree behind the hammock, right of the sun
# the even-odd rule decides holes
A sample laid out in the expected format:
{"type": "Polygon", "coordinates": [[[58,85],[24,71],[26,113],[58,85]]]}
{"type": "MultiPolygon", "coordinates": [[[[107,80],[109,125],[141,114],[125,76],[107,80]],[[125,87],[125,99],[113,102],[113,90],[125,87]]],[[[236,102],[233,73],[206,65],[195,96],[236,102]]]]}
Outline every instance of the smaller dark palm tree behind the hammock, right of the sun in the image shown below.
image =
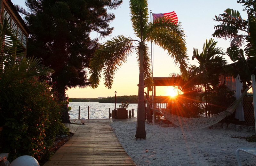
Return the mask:
{"type": "MultiPolygon", "coordinates": [[[[199,66],[192,65],[191,72],[197,75],[198,80],[201,80],[205,89],[204,97],[206,98],[212,88],[218,84],[219,73],[223,71],[223,67],[227,61],[221,56],[225,55],[222,48],[216,47],[217,41],[213,39],[206,39],[202,52],[194,48],[192,60],[196,58],[199,66]]],[[[207,112],[206,112],[207,115],[207,112]]]]}

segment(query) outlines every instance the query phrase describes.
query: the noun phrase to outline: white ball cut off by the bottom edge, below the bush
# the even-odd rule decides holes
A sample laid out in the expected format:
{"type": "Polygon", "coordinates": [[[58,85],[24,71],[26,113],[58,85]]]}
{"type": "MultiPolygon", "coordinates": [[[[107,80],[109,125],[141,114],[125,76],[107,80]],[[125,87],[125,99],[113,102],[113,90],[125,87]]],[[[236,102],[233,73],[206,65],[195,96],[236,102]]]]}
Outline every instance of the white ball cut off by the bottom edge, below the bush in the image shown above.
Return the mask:
{"type": "Polygon", "coordinates": [[[29,155],[24,155],[16,158],[15,160],[12,161],[10,166],[39,166],[39,163],[37,160],[29,155]]]}

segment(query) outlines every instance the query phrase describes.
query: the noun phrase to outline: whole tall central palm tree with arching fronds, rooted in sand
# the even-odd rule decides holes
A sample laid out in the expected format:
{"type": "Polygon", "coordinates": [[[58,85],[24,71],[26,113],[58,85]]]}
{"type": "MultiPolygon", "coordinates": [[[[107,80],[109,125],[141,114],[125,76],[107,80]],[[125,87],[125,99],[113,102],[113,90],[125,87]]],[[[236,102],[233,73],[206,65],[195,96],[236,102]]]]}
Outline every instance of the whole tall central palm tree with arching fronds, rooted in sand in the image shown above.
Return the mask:
{"type": "Polygon", "coordinates": [[[103,70],[105,86],[112,87],[115,72],[126,62],[129,54],[136,51],[139,74],[138,92],[138,114],[136,139],[146,138],[145,115],[144,115],[144,79],[148,88],[152,86],[152,72],[150,70],[149,48],[146,42],[153,41],[156,45],[167,50],[174,58],[175,65],[180,65],[183,79],[188,78],[185,32],[180,23],[175,25],[171,19],[165,21],[164,18],[157,19],[154,23],[148,23],[148,3],[147,0],[130,0],[132,28],[136,39],[129,36],[119,35],[103,43],[96,50],[90,64],[90,82],[92,88],[99,85],[100,73],[103,70]]]}

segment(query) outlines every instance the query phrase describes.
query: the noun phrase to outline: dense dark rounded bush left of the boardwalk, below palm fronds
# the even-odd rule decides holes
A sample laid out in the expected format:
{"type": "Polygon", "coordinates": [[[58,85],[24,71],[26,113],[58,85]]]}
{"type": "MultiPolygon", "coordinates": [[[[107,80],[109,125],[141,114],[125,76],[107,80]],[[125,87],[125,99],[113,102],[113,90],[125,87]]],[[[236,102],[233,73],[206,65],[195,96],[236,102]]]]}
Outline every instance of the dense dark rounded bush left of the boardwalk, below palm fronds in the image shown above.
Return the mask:
{"type": "Polygon", "coordinates": [[[4,125],[0,151],[8,152],[10,161],[21,155],[38,161],[49,157],[56,133],[68,131],[60,122],[62,107],[49,85],[24,78],[8,84],[0,81],[0,87],[0,125],[4,125]]]}

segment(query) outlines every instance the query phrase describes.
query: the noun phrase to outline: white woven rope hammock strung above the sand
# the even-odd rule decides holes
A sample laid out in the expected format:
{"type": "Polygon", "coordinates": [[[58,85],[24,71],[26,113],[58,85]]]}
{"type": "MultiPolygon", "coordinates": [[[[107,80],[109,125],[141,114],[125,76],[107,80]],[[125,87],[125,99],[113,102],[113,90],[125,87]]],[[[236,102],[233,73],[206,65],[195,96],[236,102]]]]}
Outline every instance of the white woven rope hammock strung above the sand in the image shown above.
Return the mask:
{"type": "Polygon", "coordinates": [[[218,114],[210,115],[207,117],[196,117],[196,118],[188,118],[188,117],[180,117],[177,115],[170,114],[164,110],[153,109],[154,111],[162,114],[166,119],[170,122],[182,127],[183,129],[187,130],[196,130],[202,129],[205,127],[209,127],[213,124],[220,122],[226,116],[231,115],[235,110],[238,104],[242,101],[244,96],[247,94],[248,89],[246,89],[241,96],[233,102],[227,110],[220,112],[218,114]]]}

